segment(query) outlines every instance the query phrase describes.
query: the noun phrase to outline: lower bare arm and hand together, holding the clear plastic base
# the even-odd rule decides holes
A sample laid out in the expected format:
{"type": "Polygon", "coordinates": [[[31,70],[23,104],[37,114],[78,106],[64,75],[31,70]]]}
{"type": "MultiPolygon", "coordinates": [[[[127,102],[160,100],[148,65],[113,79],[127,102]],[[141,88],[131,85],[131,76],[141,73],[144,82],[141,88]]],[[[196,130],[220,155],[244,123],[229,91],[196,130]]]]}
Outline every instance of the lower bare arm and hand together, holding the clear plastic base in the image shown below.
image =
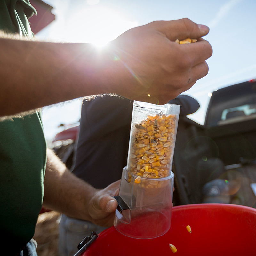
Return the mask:
{"type": "Polygon", "coordinates": [[[119,186],[120,181],[116,181],[105,189],[95,189],[71,173],[51,150],[47,151],[43,201],[46,208],[108,227],[113,225],[117,202],[112,196],[118,194],[119,186]]]}

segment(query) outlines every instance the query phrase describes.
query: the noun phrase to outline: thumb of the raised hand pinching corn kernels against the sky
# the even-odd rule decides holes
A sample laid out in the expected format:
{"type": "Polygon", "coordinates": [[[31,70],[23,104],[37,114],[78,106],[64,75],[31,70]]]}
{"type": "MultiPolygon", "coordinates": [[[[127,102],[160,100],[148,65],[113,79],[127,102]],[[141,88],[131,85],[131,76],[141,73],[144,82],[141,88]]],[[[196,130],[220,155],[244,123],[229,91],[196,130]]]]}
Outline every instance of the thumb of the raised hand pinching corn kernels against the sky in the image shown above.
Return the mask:
{"type": "Polygon", "coordinates": [[[196,24],[188,18],[172,21],[160,21],[159,31],[164,33],[168,39],[175,41],[186,38],[197,39],[209,33],[209,28],[205,25],[196,24]],[[164,23],[165,24],[164,24],[164,23]]]}

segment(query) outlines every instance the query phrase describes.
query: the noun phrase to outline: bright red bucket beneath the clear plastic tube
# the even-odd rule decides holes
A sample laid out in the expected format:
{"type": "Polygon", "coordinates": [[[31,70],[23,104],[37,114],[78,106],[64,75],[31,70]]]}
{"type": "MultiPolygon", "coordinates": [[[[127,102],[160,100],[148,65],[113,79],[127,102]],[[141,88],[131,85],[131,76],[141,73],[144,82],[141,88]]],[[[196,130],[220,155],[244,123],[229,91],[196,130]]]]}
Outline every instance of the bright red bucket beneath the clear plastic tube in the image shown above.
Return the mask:
{"type": "Polygon", "coordinates": [[[82,255],[170,256],[169,243],[177,248],[175,255],[255,255],[256,209],[234,204],[175,206],[171,228],[163,236],[135,239],[110,227],[82,255]]]}

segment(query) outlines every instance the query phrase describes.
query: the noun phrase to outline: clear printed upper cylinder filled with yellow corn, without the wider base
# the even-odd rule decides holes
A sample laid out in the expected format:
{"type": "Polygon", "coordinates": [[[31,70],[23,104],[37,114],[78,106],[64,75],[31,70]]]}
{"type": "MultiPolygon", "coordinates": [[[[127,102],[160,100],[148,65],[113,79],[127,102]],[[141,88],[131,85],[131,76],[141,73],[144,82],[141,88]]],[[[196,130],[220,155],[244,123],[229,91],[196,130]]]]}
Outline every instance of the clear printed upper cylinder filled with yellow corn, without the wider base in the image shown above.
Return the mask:
{"type": "MultiPolygon", "coordinates": [[[[134,101],[127,169],[143,178],[170,175],[180,106],[134,101]]],[[[135,181],[140,183],[140,177],[135,181]]]]}

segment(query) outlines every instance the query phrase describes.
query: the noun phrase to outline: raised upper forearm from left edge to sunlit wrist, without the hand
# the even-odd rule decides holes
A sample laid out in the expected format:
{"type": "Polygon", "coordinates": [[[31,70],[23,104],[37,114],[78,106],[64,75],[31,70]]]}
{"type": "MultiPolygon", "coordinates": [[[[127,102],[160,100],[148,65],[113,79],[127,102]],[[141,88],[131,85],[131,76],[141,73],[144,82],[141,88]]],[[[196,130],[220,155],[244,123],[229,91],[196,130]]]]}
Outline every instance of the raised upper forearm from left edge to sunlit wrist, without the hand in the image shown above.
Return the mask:
{"type": "Polygon", "coordinates": [[[100,63],[90,44],[23,41],[0,36],[0,49],[0,116],[108,93],[108,87],[101,81],[104,61],[101,59],[100,63]]]}

